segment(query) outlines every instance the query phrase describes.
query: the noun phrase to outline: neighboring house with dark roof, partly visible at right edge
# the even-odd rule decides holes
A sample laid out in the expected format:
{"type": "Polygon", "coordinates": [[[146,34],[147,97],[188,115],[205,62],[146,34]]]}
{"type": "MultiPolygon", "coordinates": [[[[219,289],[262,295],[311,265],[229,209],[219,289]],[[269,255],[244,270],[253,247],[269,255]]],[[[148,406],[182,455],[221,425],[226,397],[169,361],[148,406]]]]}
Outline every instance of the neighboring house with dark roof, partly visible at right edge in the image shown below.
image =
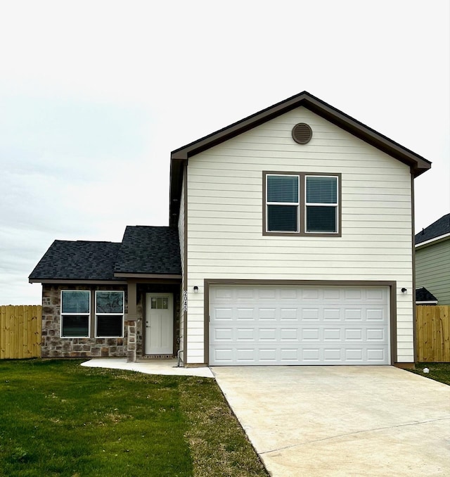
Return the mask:
{"type": "Polygon", "coordinates": [[[450,214],[416,234],[416,286],[450,305],[450,214]]]}

